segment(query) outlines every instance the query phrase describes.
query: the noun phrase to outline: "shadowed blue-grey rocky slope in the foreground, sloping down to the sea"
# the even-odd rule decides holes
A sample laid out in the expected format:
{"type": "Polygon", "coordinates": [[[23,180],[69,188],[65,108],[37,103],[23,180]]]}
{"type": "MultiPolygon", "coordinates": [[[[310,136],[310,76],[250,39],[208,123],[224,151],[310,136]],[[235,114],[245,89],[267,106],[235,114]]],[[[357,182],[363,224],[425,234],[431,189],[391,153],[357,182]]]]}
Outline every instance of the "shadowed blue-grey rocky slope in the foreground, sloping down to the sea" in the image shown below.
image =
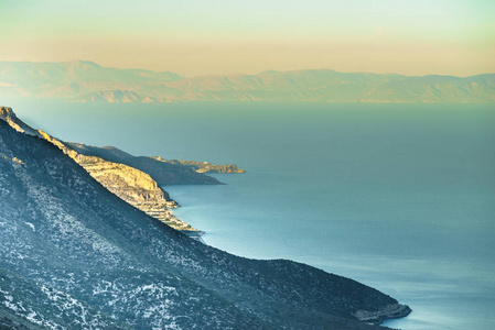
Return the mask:
{"type": "Polygon", "coordinates": [[[0,324],[383,329],[410,309],[355,280],[196,242],[0,120],[0,324]]]}

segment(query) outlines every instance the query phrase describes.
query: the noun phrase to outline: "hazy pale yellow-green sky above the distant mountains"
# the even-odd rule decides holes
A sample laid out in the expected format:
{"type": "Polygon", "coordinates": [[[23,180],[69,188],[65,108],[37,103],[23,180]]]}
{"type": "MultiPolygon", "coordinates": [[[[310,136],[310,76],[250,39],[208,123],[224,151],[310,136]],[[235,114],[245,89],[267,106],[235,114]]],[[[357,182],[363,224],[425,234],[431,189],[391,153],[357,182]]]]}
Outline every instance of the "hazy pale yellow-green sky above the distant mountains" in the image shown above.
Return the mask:
{"type": "Polygon", "coordinates": [[[0,0],[0,61],[495,73],[495,0],[0,0]]]}

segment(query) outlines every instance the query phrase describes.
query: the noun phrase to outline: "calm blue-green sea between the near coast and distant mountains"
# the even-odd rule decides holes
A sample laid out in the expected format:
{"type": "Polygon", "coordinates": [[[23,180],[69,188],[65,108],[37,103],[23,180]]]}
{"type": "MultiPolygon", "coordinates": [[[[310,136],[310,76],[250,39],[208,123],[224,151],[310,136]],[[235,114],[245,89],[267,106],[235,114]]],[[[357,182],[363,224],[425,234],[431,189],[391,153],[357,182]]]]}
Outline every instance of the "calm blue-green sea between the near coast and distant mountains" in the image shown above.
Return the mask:
{"type": "Polygon", "coordinates": [[[495,329],[493,106],[10,105],[67,141],[246,168],[165,187],[208,244],[376,287],[413,309],[389,327],[495,329]]]}

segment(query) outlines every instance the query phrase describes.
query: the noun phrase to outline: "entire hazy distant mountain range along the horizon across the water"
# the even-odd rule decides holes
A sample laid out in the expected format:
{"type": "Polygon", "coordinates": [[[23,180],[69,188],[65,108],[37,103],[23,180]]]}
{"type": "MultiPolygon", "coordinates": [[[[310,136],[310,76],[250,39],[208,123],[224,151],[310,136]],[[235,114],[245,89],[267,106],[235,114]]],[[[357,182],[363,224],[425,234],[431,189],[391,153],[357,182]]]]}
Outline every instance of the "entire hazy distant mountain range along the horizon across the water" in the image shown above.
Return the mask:
{"type": "Polygon", "coordinates": [[[462,78],[311,69],[185,78],[87,61],[0,62],[1,96],[75,102],[495,102],[495,74],[462,78]]]}

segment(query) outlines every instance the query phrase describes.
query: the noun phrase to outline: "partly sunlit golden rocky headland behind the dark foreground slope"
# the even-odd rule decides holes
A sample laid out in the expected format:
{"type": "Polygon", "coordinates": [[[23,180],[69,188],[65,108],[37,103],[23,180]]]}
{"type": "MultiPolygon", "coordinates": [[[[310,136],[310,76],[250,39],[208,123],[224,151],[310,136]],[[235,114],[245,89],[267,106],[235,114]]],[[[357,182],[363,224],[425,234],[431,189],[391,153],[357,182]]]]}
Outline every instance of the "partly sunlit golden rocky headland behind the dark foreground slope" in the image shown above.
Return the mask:
{"type": "Polygon", "coordinates": [[[109,191],[147,215],[195,239],[200,239],[203,231],[175,217],[172,209],[179,205],[161,186],[172,184],[217,185],[220,184],[217,179],[203,173],[245,172],[236,165],[166,161],[161,157],[136,157],[114,146],[97,147],[64,142],[25,124],[8,107],[0,107],[0,119],[18,132],[44,139],[56,145],[109,191]],[[208,170],[204,170],[204,168],[208,170]]]}

